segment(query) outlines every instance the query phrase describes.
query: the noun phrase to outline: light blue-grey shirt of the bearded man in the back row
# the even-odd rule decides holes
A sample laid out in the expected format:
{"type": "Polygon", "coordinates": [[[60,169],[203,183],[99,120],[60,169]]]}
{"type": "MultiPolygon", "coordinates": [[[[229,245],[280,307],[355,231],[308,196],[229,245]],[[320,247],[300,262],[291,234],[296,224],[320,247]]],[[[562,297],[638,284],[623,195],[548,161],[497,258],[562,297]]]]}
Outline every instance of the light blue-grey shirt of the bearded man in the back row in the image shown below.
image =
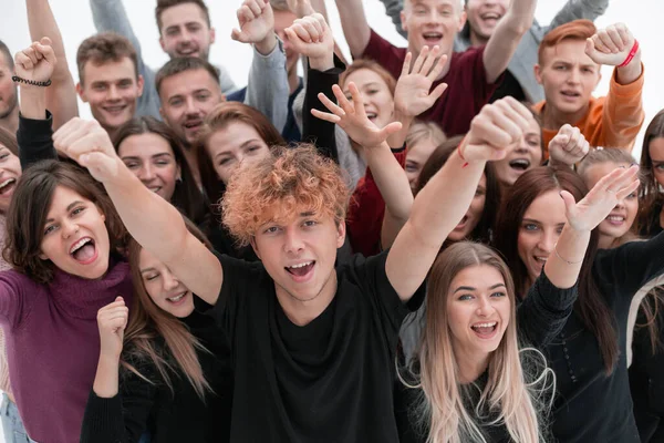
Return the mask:
{"type": "MultiPolygon", "coordinates": [[[[143,61],[141,43],[134,34],[122,0],[90,0],[90,7],[97,32],[116,32],[126,37],[136,49],[138,73],[145,81],[143,95],[138,99],[136,115],[152,115],[160,120],[160,102],[155,85],[155,71],[143,61]]],[[[221,91],[225,94],[235,91],[237,86],[228,71],[224,66],[218,68],[221,91]]],[[[288,103],[289,93],[286,54],[281,41],[268,55],[262,55],[253,50],[245,104],[262,112],[281,131],[288,119],[288,106],[284,103],[288,103]]]]}

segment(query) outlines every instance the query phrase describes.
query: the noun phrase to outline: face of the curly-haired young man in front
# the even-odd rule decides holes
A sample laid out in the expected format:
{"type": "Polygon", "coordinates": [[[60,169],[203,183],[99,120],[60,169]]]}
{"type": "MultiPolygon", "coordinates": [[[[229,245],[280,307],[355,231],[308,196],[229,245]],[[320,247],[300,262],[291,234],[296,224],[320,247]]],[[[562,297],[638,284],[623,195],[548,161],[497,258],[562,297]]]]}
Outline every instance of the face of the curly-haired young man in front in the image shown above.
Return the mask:
{"type": "Polygon", "coordinates": [[[303,210],[291,220],[262,225],[252,246],[280,300],[307,302],[334,293],[336,249],[344,238],[344,223],[303,210]]]}

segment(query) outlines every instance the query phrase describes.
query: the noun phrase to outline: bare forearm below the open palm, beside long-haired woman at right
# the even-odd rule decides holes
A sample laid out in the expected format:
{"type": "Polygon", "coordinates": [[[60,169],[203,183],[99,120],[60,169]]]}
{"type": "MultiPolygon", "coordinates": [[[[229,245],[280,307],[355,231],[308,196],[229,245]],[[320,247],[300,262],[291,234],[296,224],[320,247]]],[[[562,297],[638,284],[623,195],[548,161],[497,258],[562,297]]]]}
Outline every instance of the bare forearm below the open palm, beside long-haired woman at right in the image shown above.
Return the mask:
{"type": "Polygon", "coordinates": [[[564,289],[577,284],[589,241],[589,230],[579,231],[569,224],[564,225],[556,250],[544,265],[544,272],[553,286],[564,289]]]}

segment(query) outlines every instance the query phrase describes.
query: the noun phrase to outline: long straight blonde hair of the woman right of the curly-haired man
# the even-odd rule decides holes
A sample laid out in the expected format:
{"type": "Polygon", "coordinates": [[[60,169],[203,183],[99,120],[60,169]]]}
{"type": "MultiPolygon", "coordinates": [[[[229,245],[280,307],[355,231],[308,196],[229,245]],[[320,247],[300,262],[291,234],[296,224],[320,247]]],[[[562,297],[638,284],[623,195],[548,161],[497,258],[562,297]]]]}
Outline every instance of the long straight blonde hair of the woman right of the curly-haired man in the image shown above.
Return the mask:
{"type": "MultiPolygon", "coordinates": [[[[527,368],[546,365],[543,356],[535,349],[519,351],[516,327],[515,287],[505,261],[490,248],[475,243],[461,241],[447,248],[434,264],[428,280],[426,324],[419,343],[416,377],[422,388],[421,401],[411,411],[421,432],[428,432],[428,443],[486,442],[477,422],[487,408],[497,412],[490,425],[505,424],[512,441],[538,443],[546,441],[542,430],[543,393],[550,392],[554,375],[544,368],[539,377],[528,380],[527,368]],[[452,343],[447,319],[447,297],[454,277],[463,269],[488,265],[496,268],[505,279],[511,303],[511,321],[507,326],[498,349],[489,356],[488,382],[480,393],[474,414],[469,414],[468,390],[459,382],[459,368],[452,343]],[[531,352],[535,351],[535,352],[531,352]],[[528,356],[530,354],[530,356],[528,356]],[[531,358],[535,354],[535,358],[531,358]],[[520,357],[523,358],[523,362],[520,357]],[[539,360],[539,363],[537,362],[539,360]]],[[[411,368],[413,371],[413,368],[411,368]]],[[[413,371],[415,372],[415,371],[413,371]]],[[[548,408],[550,408],[550,402],[548,408]]],[[[492,416],[492,415],[491,415],[492,416]]]]}

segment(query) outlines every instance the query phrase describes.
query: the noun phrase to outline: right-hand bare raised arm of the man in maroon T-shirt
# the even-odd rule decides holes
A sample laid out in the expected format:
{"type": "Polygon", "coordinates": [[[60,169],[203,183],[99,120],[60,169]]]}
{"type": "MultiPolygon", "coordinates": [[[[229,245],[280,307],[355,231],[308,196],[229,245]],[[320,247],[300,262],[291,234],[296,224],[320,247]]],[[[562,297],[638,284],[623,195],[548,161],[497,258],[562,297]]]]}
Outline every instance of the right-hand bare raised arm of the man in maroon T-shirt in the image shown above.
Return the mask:
{"type": "Polygon", "coordinates": [[[523,34],[532,25],[537,0],[512,0],[505,17],[484,50],[487,83],[495,83],[505,72],[523,34]]]}

